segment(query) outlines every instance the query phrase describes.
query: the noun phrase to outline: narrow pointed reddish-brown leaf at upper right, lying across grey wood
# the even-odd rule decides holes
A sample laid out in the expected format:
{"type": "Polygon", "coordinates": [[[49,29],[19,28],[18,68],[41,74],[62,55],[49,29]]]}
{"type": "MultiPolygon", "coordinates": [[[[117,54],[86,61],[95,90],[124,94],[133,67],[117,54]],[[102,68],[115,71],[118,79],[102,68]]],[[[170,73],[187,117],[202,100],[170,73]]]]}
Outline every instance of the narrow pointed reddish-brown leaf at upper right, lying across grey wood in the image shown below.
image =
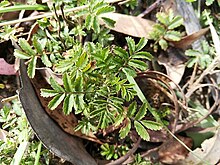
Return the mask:
{"type": "Polygon", "coordinates": [[[206,34],[208,30],[209,28],[201,29],[193,34],[183,37],[180,41],[171,41],[170,43],[176,48],[187,49],[192,45],[193,42],[206,34]]]}

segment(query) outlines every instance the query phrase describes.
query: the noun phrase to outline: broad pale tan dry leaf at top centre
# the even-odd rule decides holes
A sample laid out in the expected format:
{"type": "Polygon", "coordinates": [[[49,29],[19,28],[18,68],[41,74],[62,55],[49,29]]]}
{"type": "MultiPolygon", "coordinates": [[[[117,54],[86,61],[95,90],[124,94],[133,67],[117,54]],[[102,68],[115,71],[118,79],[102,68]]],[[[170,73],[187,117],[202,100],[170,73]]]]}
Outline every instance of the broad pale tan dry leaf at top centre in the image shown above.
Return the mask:
{"type": "MultiPolygon", "coordinates": [[[[110,28],[111,30],[134,37],[149,38],[149,32],[152,31],[152,27],[155,24],[151,20],[119,13],[106,13],[102,14],[101,17],[116,21],[115,27],[110,28]]],[[[101,23],[104,24],[104,22],[101,23]]]]}

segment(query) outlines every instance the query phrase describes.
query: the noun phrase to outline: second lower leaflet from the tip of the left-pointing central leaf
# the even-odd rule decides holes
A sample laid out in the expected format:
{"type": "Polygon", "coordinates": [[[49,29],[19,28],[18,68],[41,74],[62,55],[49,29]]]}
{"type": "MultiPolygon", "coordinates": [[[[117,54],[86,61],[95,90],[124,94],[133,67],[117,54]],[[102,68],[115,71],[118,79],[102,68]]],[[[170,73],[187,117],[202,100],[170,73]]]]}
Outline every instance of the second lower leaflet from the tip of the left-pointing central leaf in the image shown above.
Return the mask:
{"type": "Polygon", "coordinates": [[[70,112],[72,112],[73,109],[73,100],[74,100],[74,95],[73,94],[68,94],[63,102],[63,113],[65,115],[69,115],[70,112]]]}

